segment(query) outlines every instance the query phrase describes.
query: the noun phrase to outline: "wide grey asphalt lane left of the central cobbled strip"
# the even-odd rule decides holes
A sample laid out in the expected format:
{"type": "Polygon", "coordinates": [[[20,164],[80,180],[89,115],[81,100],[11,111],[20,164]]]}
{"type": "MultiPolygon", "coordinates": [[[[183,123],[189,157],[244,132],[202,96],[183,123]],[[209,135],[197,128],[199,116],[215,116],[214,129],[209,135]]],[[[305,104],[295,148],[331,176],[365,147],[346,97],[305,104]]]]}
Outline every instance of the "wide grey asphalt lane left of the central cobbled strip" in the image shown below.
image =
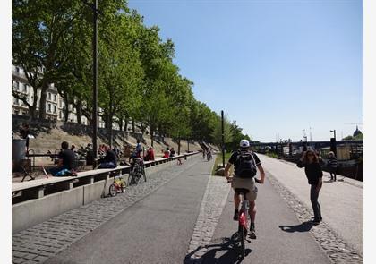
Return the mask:
{"type": "Polygon", "coordinates": [[[182,263],[213,165],[193,162],[46,263],[182,263]]]}

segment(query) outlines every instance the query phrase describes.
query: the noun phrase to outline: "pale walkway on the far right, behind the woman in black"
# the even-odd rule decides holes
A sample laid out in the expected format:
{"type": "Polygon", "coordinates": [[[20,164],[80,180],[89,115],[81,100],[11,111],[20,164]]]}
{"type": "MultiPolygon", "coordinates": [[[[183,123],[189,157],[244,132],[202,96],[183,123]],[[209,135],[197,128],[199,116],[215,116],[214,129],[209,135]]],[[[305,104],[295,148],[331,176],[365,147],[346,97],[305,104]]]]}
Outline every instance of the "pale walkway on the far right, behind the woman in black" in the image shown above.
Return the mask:
{"type": "MultiPolygon", "coordinates": [[[[269,173],[311,208],[310,185],[304,169],[291,162],[260,156],[269,173]]],[[[319,197],[323,221],[363,255],[363,182],[340,175],[337,179],[337,182],[330,182],[330,174],[324,172],[319,197]]]]}

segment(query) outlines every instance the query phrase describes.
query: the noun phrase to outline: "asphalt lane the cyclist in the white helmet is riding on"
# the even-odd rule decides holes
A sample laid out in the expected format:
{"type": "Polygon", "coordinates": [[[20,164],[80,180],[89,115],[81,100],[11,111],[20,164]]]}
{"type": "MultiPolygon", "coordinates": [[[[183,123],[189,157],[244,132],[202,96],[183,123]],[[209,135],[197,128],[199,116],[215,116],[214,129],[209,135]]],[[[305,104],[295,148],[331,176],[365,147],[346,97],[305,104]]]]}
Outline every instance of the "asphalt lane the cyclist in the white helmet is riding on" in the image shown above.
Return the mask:
{"type": "MultiPolygon", "coordinates": [[[[267,175],[268,177],[268,175],[267,175]]],[[[312,225],[301,225],[286,201],[266,180],[257,184],[257,239],[246,243],[247,256],[241,263],[331,263],[309,234],[312,225]],[[282,229],[286,230],[283,231],[282,229]]],[[[232,235],[237,231],[234,214],[234,192],[230,191],[216,232],[201,263],[240,263],[232,235]]]]}

